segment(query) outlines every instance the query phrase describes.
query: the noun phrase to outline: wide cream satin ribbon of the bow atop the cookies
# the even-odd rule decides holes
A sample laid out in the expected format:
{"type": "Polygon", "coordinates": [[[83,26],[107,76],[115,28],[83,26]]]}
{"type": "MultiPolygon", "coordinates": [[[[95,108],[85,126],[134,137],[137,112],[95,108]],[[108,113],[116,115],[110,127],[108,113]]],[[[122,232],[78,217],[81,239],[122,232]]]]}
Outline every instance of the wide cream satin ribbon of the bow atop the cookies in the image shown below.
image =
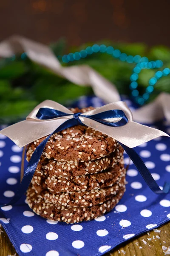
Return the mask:
{"type": "MultiPolygon", "coordinates": [[[[33,111],[31,111],[25,121],[18,122],[3,129],[2,131],[0,131],[0,134],[6,135],[11,140],[13,140],[14,143],[17,144],[19,147],[23,147],[35,140],[51,134],[63,122],[73,118],[73,115],[74,113],[72,111],[68,110],[59,103],[51,100],[45,100],[44,102],[40,103],[36,108],[34,108],[33,111]],[[40,108],[52,108],[72,115],[57,117],[48,120],[41,120],[36,117],[37,112],[40,108]]],[[[95,130],[100,131],[103,134],[107,134],[108,136],[113,137],[120,143],[123,143],[130,148],[136,147],[144,142],[160,136],[168,136],[163,131],[134,122],[132,113],[125,102],[110,103],[100,108],[96,108],[94,110],[82,113],[82,115],[79,116],[79,119],[83,124],[87,125],[88,127],[94,128],[95,130]],[[128,119],[126,125],[120,127],[111,127],[101,124],[95,120],[89,119],[88,117],[82,116],[91,116],[97,113],[114,109],[124,111],[128,119]]]]}

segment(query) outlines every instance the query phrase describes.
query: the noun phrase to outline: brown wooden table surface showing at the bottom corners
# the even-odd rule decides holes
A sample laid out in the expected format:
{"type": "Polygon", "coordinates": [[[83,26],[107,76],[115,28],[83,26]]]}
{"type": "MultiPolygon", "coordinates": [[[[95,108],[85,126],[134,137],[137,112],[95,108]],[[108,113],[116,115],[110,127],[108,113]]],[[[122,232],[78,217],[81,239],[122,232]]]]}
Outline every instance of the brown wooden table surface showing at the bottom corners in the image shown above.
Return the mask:
{"type": "MultiPolygon", "coordinates": [[[[170,255],[170,222],[116,247],[105,256],[170,255]]],[[[4,229],[0,228],[0,256],[18,256],[4,229]]],[[[89,256],[89,255],[87,255],[89,256]]]]}

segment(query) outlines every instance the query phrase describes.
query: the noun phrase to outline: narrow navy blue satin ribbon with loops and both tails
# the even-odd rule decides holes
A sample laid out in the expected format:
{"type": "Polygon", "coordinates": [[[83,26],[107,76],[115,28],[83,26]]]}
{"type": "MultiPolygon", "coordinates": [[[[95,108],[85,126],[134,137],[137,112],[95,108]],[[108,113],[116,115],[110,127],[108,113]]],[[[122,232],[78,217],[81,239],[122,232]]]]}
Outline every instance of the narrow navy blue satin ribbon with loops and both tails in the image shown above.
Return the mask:
{"type": "MultiPolygon", "coordinates": [[[[115,110],[109,110],[102,113],[98,113],[91,116],[86,116],[83,113],[74,113],[74,114],[68,114],[64,113],[62,111],[58,111],[51,108],[40,108],[40,110],[37,113],[37,118],[41,120],[49,120],[54,119],[57,117],[63,117],[63,116],[71,116],[73,115],[72,119],[68,119],[62,125],[60,125],[55,131],[53,131],[45,140],[43,140],[40,145],[36,148],[34,153],[32,154],[32,157],[28,163],[28,166],[24,172],[23,180],[20,183],[20,186],[15,193],[14,198],[11,199],[11,201],[8,204],[3,204],[0,202],[0,207],[4,207],[7,205],[15,204],[17,201],[20,200],[20,198],[23,196],[23,194],[28,189],[29,184],[31,183],[32,177],[34,176],[34,172],[37,168],[38,162],[40,160],[42,151],[48,142],[49,138],[52,134],[57,133],[59,131],[62,131],[64,129],[67,129],[69,127],[75,126],[75,125],[84,125],[81,120],[79,119],[79,116],[83,116],[89,119],[93,119],[99,123],[102,123],[104,125],[112,126],[112,127],[120,127],[123,125],[126,125],[128,122],[127,116],[122,110],[115,109],[115,110]],[[103,119],[109,119],[109,118],[121,118],[118,122],[107,122],[107,120],[103,119]]],[[[120,142],[119,142],[120,143],[120,142]]],[[[156,183],[156,181],[153,179],[152,175],[150,174],[149,170],[145,166],[142,159],[139,157],[139,155],[134,151],[133,148],[129,148],[125,146],[124,144],[120,143],[122,147],[125,149],[133,163],[135,164],[136,168],[139,170],[140,174],[144,178],[147,185],[150,187],[150,189],[155,192],[156,194],[167,194],[170,191],[170,183],[165,183],[163,190],[161,190],[156,183]]]]}

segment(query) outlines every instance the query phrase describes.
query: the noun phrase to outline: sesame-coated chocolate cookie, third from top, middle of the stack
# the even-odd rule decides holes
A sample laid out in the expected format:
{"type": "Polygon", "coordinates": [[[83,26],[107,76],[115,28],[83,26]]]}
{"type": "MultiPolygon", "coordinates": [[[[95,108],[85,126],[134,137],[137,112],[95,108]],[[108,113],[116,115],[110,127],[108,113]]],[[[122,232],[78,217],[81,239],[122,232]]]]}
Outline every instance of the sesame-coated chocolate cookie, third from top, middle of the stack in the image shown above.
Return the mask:
{"type": "Polygon", "coordinates": [[[107,186],[112,186],[119,177],[124,174],[124,166],[122,164],[117,164],[103,172],[99,172],[91,175],[82,176],[71,176],[68,177],[33,177],[39,186],[46,187],[54,193],[57,192],[74,192],[74,191],[86,191],[86,190],[96,190],[107,186]]]}

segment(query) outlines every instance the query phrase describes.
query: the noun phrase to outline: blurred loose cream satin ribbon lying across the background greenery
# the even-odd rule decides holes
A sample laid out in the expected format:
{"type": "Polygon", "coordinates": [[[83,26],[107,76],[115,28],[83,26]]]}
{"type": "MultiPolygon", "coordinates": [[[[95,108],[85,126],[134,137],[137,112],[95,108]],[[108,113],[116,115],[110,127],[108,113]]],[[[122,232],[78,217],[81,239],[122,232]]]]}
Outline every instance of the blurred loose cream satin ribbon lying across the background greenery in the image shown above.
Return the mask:
{"type": "MultiPolygon", "coordinates": [[[[75,84],[91,86],[96,96],[107,103],[120,100],[114,84],[87,65],[62,67],[48,46],[21,36],[12,36],[0,43],[1,57],[7,58],[21,52],[26,52],[32,61],[75,84]]],[[[133,111],[133,117],[135,121],[143,123],[153,123],[164,117],[170,121],[170,94],[161,93],[152,103],[133,111]]]]}

